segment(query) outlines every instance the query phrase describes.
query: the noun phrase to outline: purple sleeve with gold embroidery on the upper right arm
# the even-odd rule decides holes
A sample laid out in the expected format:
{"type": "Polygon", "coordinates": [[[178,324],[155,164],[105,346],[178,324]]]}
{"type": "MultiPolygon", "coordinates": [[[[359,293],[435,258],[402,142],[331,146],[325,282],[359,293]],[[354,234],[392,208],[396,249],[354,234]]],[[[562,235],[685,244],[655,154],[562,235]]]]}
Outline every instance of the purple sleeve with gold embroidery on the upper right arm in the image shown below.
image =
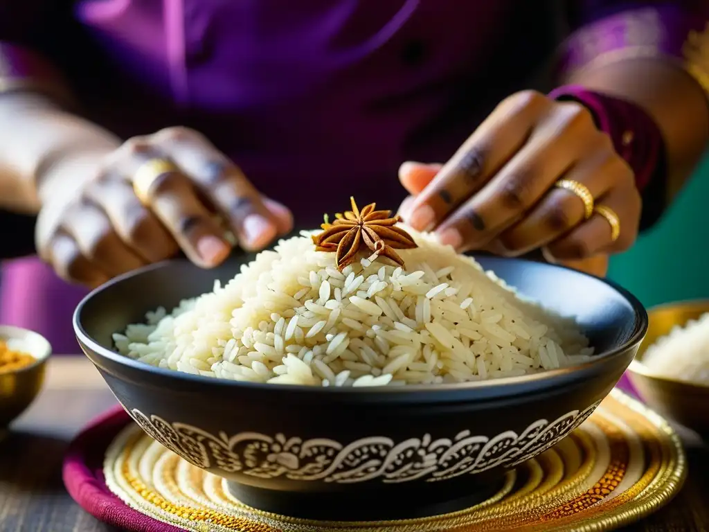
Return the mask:
{"type": "Polygon", "coordinates": [[[574,31],[559,49],[558,74],[568,79],[585,67],[626,57],[665,57],[703,83],[705,74],[696,72],[707,69],[702,42],[708,19],[709,3],[696,0],[574,2],[574,31]]]}

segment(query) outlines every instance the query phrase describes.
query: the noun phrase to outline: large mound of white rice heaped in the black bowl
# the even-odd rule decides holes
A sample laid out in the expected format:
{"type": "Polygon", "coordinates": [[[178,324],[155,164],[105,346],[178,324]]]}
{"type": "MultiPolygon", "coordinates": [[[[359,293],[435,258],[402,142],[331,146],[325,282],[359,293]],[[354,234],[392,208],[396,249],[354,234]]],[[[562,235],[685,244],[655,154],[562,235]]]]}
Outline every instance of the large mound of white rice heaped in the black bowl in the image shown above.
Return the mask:
{"type": "Polygon", "coordinates": [[[221,379],[313,386],[467,382],[586,360],[574,321],[518,297],[432,235],[406,270],[363,258],[339,272],[312,233],[281,240],[225,286],[114,335],[130,358],[221,379]]]}

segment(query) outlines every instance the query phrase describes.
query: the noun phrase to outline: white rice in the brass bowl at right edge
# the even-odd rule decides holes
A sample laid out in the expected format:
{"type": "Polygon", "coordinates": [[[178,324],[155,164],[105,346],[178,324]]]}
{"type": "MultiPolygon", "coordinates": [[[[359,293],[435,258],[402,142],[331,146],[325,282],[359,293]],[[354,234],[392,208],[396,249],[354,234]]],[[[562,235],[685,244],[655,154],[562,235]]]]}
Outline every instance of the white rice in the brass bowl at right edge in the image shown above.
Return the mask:
{"type": "Polygon", "coordinates": [[[647,348],[642,362],[658,375],[709,384],[709,313],[672,328],[647,348]]]}

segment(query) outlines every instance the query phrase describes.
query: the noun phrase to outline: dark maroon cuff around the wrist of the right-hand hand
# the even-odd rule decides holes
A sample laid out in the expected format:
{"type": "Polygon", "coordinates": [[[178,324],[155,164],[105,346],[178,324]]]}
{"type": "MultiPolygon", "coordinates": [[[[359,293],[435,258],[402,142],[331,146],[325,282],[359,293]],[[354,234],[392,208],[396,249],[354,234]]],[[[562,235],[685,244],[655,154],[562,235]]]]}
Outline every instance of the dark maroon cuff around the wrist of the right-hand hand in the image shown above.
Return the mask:
{"type": "Polygon", "coordinates": [[[591,111],[598,129],[608,133],[615,151],[635,174],[635,184],[644,200],[641,228],[652,226],[664,211],[666,185],[664,140],[657,123],[630,101],[578,85],[554,89],[549,97],[578,101],[591,111]]]}

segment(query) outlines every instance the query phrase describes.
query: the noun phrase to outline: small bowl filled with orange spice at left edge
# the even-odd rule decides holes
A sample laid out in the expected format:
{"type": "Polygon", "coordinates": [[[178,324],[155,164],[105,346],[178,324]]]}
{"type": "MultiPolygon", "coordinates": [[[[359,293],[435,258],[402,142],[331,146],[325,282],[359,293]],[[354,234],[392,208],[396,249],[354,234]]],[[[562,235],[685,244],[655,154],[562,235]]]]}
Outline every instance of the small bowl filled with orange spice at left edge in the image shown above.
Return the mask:
{"type": "Polygon", "coordinates": [[[51,353],[52,346],[40,334],[0,325],[0,429],[37,397],[51,353]]]}

